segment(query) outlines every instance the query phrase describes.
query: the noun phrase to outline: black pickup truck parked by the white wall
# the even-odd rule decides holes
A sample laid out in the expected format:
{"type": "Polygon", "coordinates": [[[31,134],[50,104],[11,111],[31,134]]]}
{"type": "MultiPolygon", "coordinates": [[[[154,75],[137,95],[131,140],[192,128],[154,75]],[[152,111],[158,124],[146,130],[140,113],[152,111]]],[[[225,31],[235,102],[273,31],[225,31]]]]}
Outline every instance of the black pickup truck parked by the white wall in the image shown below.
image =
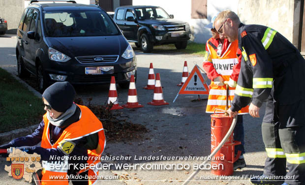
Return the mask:
{"type": "Polygon", "coordinates": [[[134,42],[145,53],[154,45],[175,44],[185,49],[191,31],[188,23],[174,20],[159,6],[120,6],[113,20],[129,42],[134,42]]]}

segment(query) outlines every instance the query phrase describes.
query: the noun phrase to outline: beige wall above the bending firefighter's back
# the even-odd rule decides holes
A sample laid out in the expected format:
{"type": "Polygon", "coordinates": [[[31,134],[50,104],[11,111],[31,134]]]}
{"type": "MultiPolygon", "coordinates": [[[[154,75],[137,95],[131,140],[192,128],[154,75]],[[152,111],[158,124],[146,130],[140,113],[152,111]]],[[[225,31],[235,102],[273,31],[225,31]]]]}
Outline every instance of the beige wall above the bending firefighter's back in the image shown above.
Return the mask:
{"type": "Polygon", "coordinates": [[[244,24],[273,28],[297,47],[300,7],[301,0],[239,0],[238,16],[244,24]]]}

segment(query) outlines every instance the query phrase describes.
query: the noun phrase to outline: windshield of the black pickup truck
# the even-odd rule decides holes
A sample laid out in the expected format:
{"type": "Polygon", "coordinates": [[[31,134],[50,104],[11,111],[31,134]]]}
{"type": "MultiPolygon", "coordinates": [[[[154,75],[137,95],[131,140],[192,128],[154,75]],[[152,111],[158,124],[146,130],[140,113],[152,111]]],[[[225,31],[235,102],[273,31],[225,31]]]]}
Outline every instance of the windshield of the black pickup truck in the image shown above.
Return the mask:
{"type": "Polygon", "coordinates": [[[170,19],[170,16],[162,8],[136,8],[136,14],[139,20],[144,19],[170,19]]]}

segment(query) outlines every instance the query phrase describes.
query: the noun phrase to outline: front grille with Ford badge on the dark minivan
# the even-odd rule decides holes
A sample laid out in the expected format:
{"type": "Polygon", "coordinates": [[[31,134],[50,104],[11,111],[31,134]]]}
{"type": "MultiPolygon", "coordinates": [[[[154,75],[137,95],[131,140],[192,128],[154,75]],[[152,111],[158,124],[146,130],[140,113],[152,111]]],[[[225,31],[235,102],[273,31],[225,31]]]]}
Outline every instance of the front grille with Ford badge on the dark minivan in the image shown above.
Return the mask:
{"type": "Polygon", "coordinates": [[[75,59],[80,63],[117,62],[119,56],[118,55],[86,56],[86,57],[75,57],[75,59]]]}

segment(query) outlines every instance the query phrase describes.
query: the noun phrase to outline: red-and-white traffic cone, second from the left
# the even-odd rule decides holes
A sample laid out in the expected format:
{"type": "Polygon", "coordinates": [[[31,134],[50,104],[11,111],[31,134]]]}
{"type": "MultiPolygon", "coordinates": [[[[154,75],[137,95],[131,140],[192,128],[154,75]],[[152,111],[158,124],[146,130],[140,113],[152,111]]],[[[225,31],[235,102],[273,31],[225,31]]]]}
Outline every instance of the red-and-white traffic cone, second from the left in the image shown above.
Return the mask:
{"type": "Polygon", "coordinates": [[[130,78],[127,104],[122,105],[122,106],[125,108],[128,108],[128,109],[144,107],[143,105],[139,104],[139,102],[138,102],[136,84],[134,82],[133,75],[131,75],[131,78],[130,78]]]}

